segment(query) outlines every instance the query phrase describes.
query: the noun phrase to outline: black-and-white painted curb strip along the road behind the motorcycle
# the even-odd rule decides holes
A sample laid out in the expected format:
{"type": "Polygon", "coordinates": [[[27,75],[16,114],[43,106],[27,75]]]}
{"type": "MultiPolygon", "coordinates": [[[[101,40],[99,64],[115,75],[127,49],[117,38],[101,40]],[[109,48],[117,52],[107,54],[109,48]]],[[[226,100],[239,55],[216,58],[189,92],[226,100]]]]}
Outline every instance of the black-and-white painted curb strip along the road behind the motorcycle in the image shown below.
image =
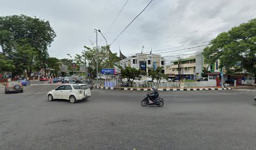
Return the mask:
{"type": "MultiPolygon", "coordinates": [[[[124,87],[99,87],[98,89],[110,89],[110,90],[125,90],[125,91],[152,91],[152,88],[124,88],[124,87]]],[[[157,91],[215,91],[215,90],[227,90],[233,89],[232,87],[221,88],[216,87],[201,87],[201,88],[157,88],[157,91]]]]}

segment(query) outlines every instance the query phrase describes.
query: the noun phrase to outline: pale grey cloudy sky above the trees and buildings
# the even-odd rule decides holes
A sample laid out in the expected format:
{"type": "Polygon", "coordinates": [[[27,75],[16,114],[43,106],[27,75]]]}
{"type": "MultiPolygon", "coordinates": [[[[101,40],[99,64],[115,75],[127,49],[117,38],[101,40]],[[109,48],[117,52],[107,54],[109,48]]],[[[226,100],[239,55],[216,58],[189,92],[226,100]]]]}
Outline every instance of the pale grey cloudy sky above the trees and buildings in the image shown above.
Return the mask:
{"type": "MultiPolygon", "coordinates": [[[[150,0],[129,0],[110,28],[126,1],[0,0],[0,15],[24,14],[50,21],[57,36],[48,52],[51,57],[68,58],[67,53],[74,56],[80,54],[83,46],[92,46],[96,41],[93,29],[100,29],[109,43],[114,41],[150,0]]],[[[153,0],[110,49],[119,54],[120,46],[122,53],[129,56],[141,53],[143,45],[144,52],[151,51],[152,47],[153,53],[162,52],[168,59],[186,56],[184,54],[201,51],[202,47],[179,46],[206,44],[220,32],[255,18],[255,8],[255,0],[153,0]],[[184,50],[175,51],[179,49],[184,50]]],[[[104,45],[99,34],[99,46],[104,45]]]]}

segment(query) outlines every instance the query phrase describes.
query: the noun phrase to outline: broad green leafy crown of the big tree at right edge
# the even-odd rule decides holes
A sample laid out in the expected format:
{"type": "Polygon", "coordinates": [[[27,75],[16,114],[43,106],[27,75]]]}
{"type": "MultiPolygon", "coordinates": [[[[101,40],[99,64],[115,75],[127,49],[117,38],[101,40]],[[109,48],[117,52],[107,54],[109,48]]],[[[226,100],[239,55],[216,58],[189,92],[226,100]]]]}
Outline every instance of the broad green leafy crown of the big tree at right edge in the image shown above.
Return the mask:
{"type": "Polygon", "coordinates": [[[203,50],[206,63],[220,59],[220,68],[227,71],[238,73],[246,69],[256,83],[256,19],[222,32],[210,44],[203,50]]]}

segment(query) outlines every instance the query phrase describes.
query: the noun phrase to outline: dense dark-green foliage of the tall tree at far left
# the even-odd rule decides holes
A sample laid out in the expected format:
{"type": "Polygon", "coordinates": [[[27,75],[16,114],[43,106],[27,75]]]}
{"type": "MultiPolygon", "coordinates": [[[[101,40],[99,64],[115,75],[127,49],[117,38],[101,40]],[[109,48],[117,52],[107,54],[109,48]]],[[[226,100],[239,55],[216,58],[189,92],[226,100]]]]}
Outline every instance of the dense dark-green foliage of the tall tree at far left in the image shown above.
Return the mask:
{"type": "Polygon", "coordinates": [[[24,15],[0,17],[1,49],[15,61],[16,74],[23,74],[24,68],[28,75],[46,68],[48,47],[55,37],[49,21],[24,15]]]}

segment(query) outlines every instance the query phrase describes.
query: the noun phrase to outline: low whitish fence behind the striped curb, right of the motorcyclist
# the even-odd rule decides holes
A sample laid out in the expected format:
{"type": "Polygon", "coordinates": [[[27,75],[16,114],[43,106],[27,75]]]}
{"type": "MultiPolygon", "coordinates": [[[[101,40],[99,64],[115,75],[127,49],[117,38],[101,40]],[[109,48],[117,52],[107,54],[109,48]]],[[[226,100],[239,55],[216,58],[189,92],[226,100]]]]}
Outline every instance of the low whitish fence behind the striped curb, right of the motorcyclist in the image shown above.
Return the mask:
{"type": "MultiPolygon", "coordinates": [[[[146,84],[134,84],[134,87],[144,87],[144,88],[152,88],[152,86],[156,86],[156,88],[179,88],[179,82],[166,82],[166,83],[146,83],[146,84]]],[[[216,86],[215,80],[210,81],[196,81],[196,82],[184,82],[184,88],[200,88],[200,87],[209,87],[216,86]]]]}

